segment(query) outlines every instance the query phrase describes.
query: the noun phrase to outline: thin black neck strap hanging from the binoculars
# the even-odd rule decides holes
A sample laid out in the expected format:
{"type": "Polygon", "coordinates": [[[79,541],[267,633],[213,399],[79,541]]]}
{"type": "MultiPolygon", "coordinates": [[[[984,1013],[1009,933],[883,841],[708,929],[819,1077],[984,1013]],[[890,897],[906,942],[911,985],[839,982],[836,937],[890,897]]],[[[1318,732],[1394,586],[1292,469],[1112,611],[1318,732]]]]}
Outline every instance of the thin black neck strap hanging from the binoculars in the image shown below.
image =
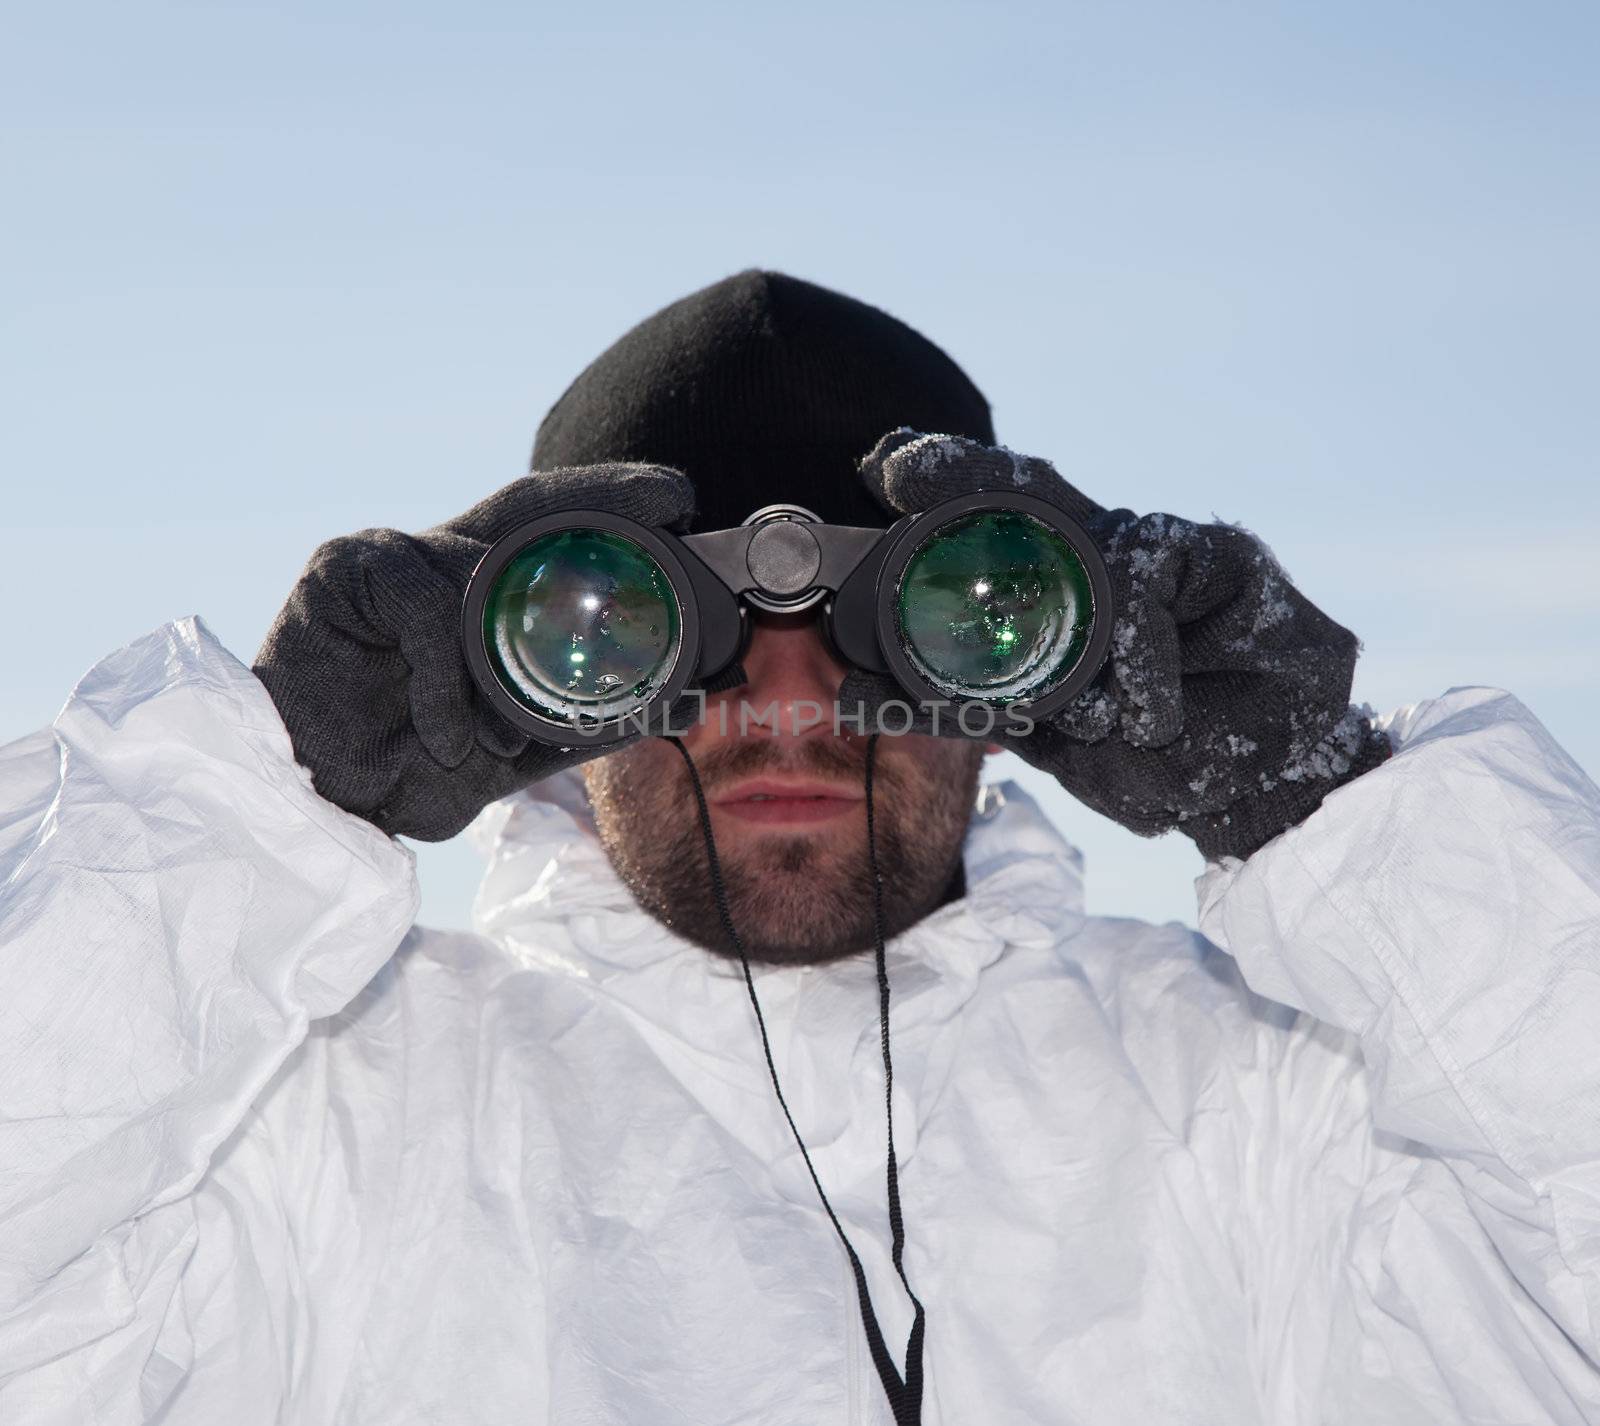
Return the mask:
{"type": "Polygon", "coordinates": [[[872,931],[878,967],[878,1029],[883,1040],[883,1100],[888,1117],[886,1176],[890,1231],[893,1234],[891,1252],[894,1258],[894,1271],[899,1274],[906,1295],[915,1308],[910,1336],[906,1341],[904,1376],[894,1367],[894,1359],[890,1356],[888,1346],[883,1341],[883,1332],[878,1327],[877,1312],[872,1311],[872,1293],[867,1292],[867,1274],[861,1266],[861,1258],[856,1256],[856,1250],[851,1247],[850,1237],[845,1234],[843,1224],[838,1221],[838,1215],[834,1213],[834,1205],[829,1204],[827,1194],[822,1191],[822,1181],[816,1176],[816,1168],[811,1164],[810,1152],[806,1152],[805,1140],[800,1138],[800,1130],[795,1127],[794,1114],[789,1112],[789,1101],[784,1100],[782,1085],[778,1082],[778,1066],[773,1063],[773,1047],[766,1035],[766,1018],[762,1015],[762,1002],[755,995],[755,981],[750,976],[750,957],[744,951],[744,941],[739,938],[739,933],[733,925],[733,915],[728,911],[728,890],[723,885],[722,863],[717,858],[717,840],[710,831],[710,810],[706,807],[706,791],[701,787],[694,760],[690,757],[690,751],[682,741],[677,738],[667,738],[666,741],[678,749],[683,755],[683,765],[688,768],[690,786],[694,789],[694,805],[699,811],[701,834],[706,839],[706,863],[710,871],[712,895],[717,899],[717,915],[722,919],[723,933],[733,943],[734,949],[738,949],[739,963],[744,967],[744,986],[750,992],[750,1005],[755,1010],[755,1024],[762,1032],[762,1051],[766,1055],[766,1072],[771,1076],[773,1093],[778,1095],[778,1106],[784,1111],[784,1119],[789,1122],[789,1132],[794,1135],[795,1144],[800,1148],[800,1157],[805,1160],[806,1172],[811,1175],[811,1183],[816,1186],[816,1196],[822,1200],[822,1210],[827,1213],[829,1223],[834,1224],[834,1232],[838,1234],[838,1240],[845,1245],[845,1253],[850,1258],[850,1269],[856,1276],[856,1296],[861,1300],[861,1325],[867,1335],[867,1348],[872,1352],[872,1365],[878,1370],[878,1380],[883,1383],[890,1408],[894,1412],[894,1426],[918,1426],[922,1421],[922,1341],[926,1319],[922,1311],[922,1303],[917,1300],[917,1293],[910,1290],[910,1282],[906,1279],[906,1221],[901,1215],[899,1172],[894,1165],[894,1061],[890,1056],[890,975],[883,951],[883,882],[878,879],[877,829],[872,818],[872,770],[877,762],[878,735],[874,733],[867,739],[867,859],[872,872],[872,931]]]}

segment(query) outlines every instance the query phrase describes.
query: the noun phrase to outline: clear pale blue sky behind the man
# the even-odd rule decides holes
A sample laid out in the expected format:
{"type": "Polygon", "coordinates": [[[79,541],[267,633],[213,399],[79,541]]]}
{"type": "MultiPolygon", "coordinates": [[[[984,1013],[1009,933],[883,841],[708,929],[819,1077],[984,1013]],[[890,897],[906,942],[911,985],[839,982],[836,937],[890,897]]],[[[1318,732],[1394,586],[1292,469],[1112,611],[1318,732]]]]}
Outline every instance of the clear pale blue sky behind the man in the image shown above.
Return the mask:
{"type": "MultiPolygon", "coordinates": [[[[174,616],[248,661],[317,543],[518,475],[762,266],[1102,503],[1253,528],[1358,699],[1510,688],[1600,771],[1597,74],[1587,3],[14,6],[0,739],[174,616]]],[[[1187,840],[1045,794],[1093,911],[1192,920],[1187,840]]]]}

